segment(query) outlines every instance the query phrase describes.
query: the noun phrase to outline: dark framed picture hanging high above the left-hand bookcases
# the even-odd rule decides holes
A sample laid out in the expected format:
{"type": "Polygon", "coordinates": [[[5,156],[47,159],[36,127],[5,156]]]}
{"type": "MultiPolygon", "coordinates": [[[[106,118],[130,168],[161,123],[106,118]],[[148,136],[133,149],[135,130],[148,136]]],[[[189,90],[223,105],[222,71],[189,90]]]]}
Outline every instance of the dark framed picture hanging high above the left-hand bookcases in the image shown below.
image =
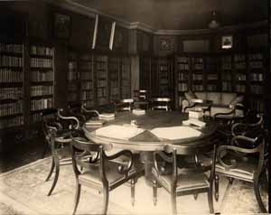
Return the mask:
{"type": "Polygon", "coordinates": [[[59,39],[69,39],[70,37],[70,15],[53,14],[53,34],[59,39]]]}

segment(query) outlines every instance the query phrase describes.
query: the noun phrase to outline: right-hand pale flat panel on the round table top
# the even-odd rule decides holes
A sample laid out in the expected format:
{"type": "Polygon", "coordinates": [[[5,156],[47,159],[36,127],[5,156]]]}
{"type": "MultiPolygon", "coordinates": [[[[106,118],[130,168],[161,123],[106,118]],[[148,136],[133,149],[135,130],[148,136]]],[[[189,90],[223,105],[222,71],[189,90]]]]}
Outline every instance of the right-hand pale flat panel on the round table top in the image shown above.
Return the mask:
{"type": "Polygon", "coordinates": [[[157,127],[151,130],[151,132],[154,136],[169,140],[201,136],[201,131],[189,126],[157,127]]]}

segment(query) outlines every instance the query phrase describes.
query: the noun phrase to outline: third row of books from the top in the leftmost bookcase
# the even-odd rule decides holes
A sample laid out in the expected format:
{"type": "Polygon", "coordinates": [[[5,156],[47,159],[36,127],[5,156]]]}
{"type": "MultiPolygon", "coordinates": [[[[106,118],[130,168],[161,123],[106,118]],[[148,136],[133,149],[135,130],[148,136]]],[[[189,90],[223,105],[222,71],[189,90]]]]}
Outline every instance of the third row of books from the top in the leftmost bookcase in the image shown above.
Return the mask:
{"type": "Polygon", "coordinates": [[[0,68],[0,83],[22,82],[23,71],[0,68]]]}

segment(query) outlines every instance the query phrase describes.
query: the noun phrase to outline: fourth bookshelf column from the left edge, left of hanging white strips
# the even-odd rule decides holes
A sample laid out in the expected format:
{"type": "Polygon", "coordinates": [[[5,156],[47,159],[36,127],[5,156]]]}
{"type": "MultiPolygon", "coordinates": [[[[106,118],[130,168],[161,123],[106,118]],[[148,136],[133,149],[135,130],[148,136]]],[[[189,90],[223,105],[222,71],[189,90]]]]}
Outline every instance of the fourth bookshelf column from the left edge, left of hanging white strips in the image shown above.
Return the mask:
{"type": "Polygon", "coordinates": [[[80,102],[87,107],[94,107],[94,72],[93,56],[85,53],[79,56],[80,102]]]}

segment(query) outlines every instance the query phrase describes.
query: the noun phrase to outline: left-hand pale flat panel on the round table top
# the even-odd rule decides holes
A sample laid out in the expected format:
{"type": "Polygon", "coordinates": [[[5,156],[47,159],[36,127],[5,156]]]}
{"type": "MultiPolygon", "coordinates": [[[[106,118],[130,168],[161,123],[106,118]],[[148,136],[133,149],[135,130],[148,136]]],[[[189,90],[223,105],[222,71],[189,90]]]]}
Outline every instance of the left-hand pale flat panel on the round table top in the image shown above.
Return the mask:
{"type": "Polygon", "coordinates": [[[128,140],[129,138],[137,136],[144,131],[144,129],[135,126],[111,125],[98,128],[95,132],[97,136],[128,140]]]}

